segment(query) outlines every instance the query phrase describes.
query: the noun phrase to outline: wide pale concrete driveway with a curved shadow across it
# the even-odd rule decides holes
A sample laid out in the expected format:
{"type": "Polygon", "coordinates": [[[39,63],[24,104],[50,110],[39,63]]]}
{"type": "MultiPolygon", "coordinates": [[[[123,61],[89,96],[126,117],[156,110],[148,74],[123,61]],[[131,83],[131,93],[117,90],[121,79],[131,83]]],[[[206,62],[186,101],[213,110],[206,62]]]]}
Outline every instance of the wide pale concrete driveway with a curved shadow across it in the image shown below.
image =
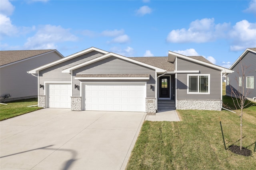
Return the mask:
{"type": "Polygon", "coordinates": [[[1,121],[0,169],[125,169],[145,116],[47,108],[1,121]]]}

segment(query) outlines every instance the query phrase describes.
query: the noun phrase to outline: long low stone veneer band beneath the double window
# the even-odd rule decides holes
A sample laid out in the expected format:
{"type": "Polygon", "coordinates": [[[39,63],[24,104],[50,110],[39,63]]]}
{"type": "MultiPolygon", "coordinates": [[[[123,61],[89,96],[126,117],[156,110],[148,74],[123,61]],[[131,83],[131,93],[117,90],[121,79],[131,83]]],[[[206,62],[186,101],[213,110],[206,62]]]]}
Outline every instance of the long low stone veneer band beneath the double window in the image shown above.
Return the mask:
{"type": "Polygon", "coordinates": [[[221,100],[177,100],[176,109],[221,111],[221,100]]]}

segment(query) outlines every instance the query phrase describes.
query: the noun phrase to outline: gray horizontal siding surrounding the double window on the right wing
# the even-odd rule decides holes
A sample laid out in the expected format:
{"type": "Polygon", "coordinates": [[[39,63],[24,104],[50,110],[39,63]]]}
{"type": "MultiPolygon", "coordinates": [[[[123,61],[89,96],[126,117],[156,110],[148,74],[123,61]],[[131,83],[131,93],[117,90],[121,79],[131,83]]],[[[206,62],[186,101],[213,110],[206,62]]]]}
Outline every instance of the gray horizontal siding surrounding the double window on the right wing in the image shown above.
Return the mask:
{"type": "Polygon", "coordinates": [[[220,70],[202,64],[177,58],[177,70],[200,70],[196,74],[210,74],[210,94],[188,94],[188,74],[177,73],[177,100],[221,100],[221,76],[220,70]]]}

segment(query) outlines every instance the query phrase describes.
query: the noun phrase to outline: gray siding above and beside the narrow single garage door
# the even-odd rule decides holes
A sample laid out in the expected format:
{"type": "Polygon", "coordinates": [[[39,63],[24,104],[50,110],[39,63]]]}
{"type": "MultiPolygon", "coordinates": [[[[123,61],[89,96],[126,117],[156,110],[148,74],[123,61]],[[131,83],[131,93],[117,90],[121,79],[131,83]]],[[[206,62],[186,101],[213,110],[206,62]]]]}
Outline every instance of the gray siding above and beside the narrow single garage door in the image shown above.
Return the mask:
{"type": "MultiPolygon", "coordinates": [[[[98,51],[92,51],[44,70],[40,70],[39,84],[44,84],[44,82],[71,82],[71,74],[62,73],[62,70],[95,59],[96,57],[100,57],[102,55],[103,54],[99,53],[98,51]]],[[[39,88],[39,95],[44,95],[43,88],[39,88]]]]}

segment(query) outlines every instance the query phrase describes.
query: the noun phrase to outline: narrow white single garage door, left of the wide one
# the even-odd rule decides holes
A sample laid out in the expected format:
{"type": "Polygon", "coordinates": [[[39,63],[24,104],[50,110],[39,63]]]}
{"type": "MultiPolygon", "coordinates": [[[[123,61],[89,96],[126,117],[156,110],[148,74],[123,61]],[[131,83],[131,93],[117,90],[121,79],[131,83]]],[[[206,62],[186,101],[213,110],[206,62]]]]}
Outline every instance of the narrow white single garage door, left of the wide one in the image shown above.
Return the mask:
{"type": "Polygon", "coordinates": [[[54,83],[49,84],[49,107],[70,108],[72,88],[71,84],[54,83]]]}

